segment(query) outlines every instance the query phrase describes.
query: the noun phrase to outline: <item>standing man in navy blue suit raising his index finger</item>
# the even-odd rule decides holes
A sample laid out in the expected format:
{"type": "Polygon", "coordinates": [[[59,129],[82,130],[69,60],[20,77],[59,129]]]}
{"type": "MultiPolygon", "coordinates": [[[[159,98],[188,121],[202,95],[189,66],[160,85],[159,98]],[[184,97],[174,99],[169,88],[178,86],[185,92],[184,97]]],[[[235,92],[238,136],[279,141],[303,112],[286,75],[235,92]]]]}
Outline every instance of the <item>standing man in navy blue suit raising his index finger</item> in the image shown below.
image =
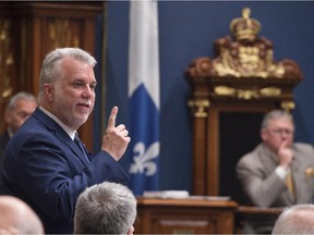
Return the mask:
{"type": "Polygon", "coordinates": [[[27,202],[40,217],[46,233],[73,232],[75,202],[92,185],[125,184],[118,164],[130,143],[125,126],[116,126],[113,107],[101,151],[90,156],[74,141],[95,102],[96,60],[77,48],[56,49],[45,58],[39,78],[39,107],[10,140],[4,151],[2,194],[27,202]]]}

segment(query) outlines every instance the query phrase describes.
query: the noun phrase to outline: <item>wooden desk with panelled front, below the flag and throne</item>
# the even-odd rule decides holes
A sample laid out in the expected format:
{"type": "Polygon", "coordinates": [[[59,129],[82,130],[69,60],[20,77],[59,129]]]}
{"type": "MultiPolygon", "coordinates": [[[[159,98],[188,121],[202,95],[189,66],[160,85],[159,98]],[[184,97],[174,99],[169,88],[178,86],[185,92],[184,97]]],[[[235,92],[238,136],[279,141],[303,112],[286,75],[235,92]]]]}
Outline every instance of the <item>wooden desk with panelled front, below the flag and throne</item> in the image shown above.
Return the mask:
{"type": "Polygon", "coordinates": [[[237,207],[229,200],[137,198],[135,234],[232,234],[237,207]]]}

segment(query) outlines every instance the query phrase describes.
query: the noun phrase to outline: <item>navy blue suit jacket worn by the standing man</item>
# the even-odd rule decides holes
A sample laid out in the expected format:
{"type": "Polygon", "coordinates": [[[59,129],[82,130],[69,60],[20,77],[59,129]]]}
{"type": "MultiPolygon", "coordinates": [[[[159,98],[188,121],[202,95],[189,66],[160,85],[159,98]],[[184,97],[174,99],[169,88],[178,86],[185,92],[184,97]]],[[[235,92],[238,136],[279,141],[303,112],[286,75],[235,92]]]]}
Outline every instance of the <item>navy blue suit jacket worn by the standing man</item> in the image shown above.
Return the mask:
{"type": "Polygon", "coordinates": [[[38,108],[9,141],[2,194],[26,201],[46,233],[72,233],[75,202],[88,186],[128,175],[105,151],[88,162],[77,145],[38,108]]]}

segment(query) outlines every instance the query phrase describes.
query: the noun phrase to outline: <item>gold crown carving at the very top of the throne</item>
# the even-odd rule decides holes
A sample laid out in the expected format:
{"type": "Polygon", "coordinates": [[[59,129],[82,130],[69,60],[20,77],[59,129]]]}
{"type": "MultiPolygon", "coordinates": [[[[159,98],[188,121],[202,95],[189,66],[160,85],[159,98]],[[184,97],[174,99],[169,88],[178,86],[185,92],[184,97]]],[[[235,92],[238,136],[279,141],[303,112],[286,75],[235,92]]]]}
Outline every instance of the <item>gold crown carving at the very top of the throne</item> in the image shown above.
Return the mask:
{"type": "Polygon", "coordinates": [[[255,18],[250,18],[251,9],[242,10],[242,17],[233,18],[230,23],[230,32],[237,40],[254,40],[261,30],[261,23],[255,18]]]}

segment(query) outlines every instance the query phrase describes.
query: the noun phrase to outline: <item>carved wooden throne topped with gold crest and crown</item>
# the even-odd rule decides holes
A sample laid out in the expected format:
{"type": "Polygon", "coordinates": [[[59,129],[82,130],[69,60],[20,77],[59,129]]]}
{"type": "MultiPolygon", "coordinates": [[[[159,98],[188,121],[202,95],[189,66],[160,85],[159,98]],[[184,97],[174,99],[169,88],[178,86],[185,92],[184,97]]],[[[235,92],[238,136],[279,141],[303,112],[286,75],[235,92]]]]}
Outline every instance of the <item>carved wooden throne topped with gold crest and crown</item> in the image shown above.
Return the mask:
{"type": "Polygon", "coordinates": [[[193,119],[193,194],[231,196],[244,203],[235,177],[239,158],[259,141],[265,112],[294,108],[292,89],[303,76],[292,60],[274,61],[261,23],[243,9],[231,36],[214,42],[215,57],[197,58],[185,71],[193,119]]]}

